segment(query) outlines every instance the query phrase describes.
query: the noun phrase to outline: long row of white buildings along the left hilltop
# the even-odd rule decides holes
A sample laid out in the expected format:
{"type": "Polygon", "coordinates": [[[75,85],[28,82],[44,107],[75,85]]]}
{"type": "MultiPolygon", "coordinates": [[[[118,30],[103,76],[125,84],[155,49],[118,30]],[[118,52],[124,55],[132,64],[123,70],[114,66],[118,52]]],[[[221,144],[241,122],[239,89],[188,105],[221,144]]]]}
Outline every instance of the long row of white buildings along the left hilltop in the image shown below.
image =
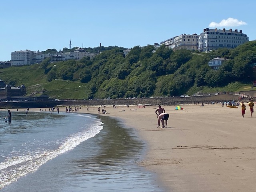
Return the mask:
{"type": "Polygon", "coordinates": [[[94,58],[96,54],[91,54],[90,52],[86,52],[82,48],[77,48],[74,52],[64,52],[64,53],[54,53],[54,54],[42,54],[41,52],[34,52],[30,50],[20,50],[12,52],[12,66],[19,65],[32,65],[36,63],[42,62],[46,58],[50,58],[50,62],[58,62],[65,61],[70,59],[80,60],[83,57],[90,56],[90,58],[94,58]]]}

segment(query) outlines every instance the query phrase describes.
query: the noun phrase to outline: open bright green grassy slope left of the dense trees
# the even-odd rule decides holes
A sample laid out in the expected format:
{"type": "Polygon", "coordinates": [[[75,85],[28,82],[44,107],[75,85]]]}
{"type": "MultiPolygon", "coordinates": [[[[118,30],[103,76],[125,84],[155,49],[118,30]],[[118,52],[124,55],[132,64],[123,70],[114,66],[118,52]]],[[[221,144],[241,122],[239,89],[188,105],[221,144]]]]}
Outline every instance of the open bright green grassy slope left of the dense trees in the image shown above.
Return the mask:
{"type": "Polygon", "coordinates": [[[88,95],[88,89],[84,83],[64,80],[48,82],[44,70],[36,64],[1,69],[0,78],[5,83],[14,80],[14,86],[24,84],[28,95],[35,91],[41,92],[42,90],[45,90],[46,94],[50,97],[60,99],[84,99],[88,95]]]}

